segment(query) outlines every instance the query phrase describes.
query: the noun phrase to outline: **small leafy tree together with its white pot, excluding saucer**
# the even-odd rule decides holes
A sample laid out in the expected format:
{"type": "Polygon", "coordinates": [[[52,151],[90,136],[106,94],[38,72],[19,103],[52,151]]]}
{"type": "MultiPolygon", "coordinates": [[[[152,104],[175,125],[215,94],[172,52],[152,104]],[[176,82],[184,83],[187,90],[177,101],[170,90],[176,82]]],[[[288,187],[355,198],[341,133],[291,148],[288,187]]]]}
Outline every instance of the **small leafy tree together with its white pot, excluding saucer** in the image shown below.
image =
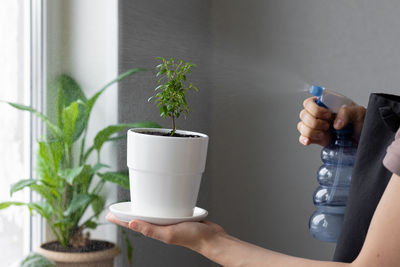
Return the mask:
{"type": "Polygon", "coordinates": [[[187,81],[195,65],[158,59],[158,86],[149,101],[155,99],[160,116],[170,117],[172,128],[128,131],[131,211],[148,217],[188,218],[197,201],[208,146],[207,135],[176,129],[176,119],[189,111],[186,93],[197,91],[187,81]]]}

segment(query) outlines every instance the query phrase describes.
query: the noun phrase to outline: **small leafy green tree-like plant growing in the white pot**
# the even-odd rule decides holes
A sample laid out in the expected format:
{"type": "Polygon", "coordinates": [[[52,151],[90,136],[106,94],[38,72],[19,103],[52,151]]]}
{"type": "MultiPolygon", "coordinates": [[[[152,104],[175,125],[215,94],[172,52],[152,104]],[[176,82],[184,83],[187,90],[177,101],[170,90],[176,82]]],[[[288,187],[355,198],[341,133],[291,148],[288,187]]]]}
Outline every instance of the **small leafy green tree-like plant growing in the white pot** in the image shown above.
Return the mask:
{"type": "Polygon", "coordinates": [[[155,103],[160,108],[160,116],[163,118],[171,117],[171,136],[173,136],[176,131],[175,119],[179,118],[182,113],[187,114],[189,112],[186,92],[191,89],[198,91],[193,83],[187,82],[187,75],[196,65],[174,58],[166,60],[158,57],[157,59],[162,61],[156,67],[158,70],[156,77],[160,78],[155,89],[157,93],[150,97],[149,101],[155,98],[155,103]]]}

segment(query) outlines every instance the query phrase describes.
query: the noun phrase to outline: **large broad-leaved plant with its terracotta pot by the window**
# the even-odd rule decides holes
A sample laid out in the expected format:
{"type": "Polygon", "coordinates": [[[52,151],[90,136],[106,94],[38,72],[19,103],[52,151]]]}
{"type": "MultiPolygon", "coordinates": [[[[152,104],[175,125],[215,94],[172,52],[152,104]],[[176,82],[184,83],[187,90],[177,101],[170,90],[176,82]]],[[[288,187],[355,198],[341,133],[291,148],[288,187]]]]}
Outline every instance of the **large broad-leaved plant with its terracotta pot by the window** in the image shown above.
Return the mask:
{"type": "Polygon", "coordinates": [[[42,216],[56,240],[42,244],[37,251],[57,266],[113,266],[114,257],[119,254],[115,244],[92,240],[87,231],[99,225],[99,215],[105,207],[105,197],[101,195],[104,184],[112,182],[129,188],[127,173],[107,171],[109,166],[101,161],[100,152],[105,142],[124,138],[114,135],[127,128],[160,126],[153,122],[110,125],[97,133],[89,147],[86,146],[87,132],[91,111],[100,95],[110,85],[142,70],[137,68],[123,73],[89,99],[71,77],[60,76],[56,123],[29,106],[9,103],[38,116],[47,126],[47,134],[38,140],[37,178],[20,180],[10,190],[12,195],[30,188],[42,200],[2,202],[0,209],[24,205],[31,213],[42,216]],[[97,157],[91,164],[89,156],[93,153],[97,157]],[[89,209],[92,215],[84,220],[83,215],[89,209]]]}

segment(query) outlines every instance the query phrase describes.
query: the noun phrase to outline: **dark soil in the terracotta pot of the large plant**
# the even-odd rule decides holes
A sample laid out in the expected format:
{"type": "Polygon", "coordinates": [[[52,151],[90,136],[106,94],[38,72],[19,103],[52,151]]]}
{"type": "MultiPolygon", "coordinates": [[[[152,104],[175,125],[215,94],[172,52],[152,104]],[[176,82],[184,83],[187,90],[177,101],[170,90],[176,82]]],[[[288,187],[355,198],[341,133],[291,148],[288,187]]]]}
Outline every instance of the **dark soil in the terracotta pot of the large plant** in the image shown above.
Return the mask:
{"type": "Polygon", "coordinates": [[[78,248],[74,248],[71,245],[68,245],[67,248],[63,248],[58,241],[49,242],[42,245],[42,248],[47,250],[69,253],[95,252],[106,250],[112,247],[114,247],[113,243],[100,240],[89,240],[89,243],[86,246],[78,248]]]}

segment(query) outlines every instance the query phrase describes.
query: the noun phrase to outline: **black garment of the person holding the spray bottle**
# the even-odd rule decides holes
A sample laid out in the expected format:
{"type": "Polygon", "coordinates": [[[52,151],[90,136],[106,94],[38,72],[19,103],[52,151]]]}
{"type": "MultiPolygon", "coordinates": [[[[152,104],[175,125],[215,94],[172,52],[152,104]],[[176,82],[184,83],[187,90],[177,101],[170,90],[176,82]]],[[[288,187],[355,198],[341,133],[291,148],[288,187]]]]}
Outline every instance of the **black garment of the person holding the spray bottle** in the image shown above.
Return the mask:
{"type": "Polygon", "coordinates": [[[399,125],[400,96],[371,94],[334,261],[352,262],[362,248],[376,206],[392,175],[382,160],[399,125]]]}

